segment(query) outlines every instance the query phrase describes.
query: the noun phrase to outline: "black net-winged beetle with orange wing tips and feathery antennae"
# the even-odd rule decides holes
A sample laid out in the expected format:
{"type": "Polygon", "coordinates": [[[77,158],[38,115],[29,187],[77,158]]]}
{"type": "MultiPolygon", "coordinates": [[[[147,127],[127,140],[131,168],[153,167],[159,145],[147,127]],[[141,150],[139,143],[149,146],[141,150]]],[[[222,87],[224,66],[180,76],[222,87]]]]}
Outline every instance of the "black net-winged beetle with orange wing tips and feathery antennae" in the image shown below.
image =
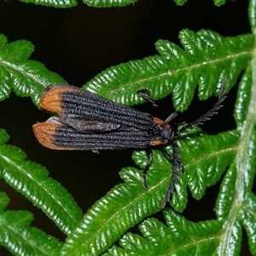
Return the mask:
{"type": "MultiPolygon", "coordinates": [[[[225,84],[225,81],[224,81],[225,84]]],[[[143,186],[147,188],[146,172],[152,161],[152,147],[159,148],[166,159],[172,162],[173,170],[162,208],[177,183],[178,170],[183,170],[179,157],[177,138],[180,134],[203,123],[217,114],[224,101],[225,85],[214,106],[195,121],[184,125],[180,130],[169,125],[177,116],[172,113],[165,121],[149,113],[112,102],[102,96],[82,90],[71,85],[49,85],[40,99],[40,107],[55,113],[44,123],[33,125],[38,142],[47,148],[57,150],[92,150],[146,148],[148,164],[143,171],[143,186]],[[172,144],[172,156],[165,146],[172,144]]],[[[138,90],[143,99],[154,101],[138,90]]]]}

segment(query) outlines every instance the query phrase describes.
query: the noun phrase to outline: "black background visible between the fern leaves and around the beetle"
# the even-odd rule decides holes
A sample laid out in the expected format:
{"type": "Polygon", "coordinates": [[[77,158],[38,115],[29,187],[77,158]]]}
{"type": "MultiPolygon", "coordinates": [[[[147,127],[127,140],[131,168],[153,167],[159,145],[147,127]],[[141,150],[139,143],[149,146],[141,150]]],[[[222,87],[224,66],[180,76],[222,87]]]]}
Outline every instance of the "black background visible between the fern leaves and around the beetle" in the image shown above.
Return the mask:
{"type": "MultiPolygon", "coordinates": [[[[34,4],[8,1],[0,3],[0,32],[9,42],[26,39],[35,46],[31,59],[44,63],[49,70],[60,74],[69,84],[82,86],[97,73],[121,62],[143,59],[158,54],[154,43],[167,39],[179,44],[178,32],[183,28],[198,31],[202,28],[219,32],[223,36],[249,33],[247,20],[248,1],[228,1],[221,8],[212,0],[189,0],[178,7],[172,0],[141,0],[125,8],[94,9],[79,2],[72,9],[54,9],[34,4]]],[[[195,101],[181,116],[193,120],[198,110],[207,110],[216,101],[195,101]]],[[[217,134],[236,128],[232,117],[236,101],[236,87],[225,101],[223,108],[204,130],[217,134]]],[[[165,119],[172,113],[172,96],[158,102],[155,116],[165,119]]],[[[148,105],[137,108],[147,111],[148,105]]],[[[201,113],[201,112],[200,112],[201,113]]],[[[0,102],[0,127],[8,131],[10,144],[23,149],[27,159],[41,163],[49,170],[49,176],[59,181],[78,201],[86,212],[90,206],[113,185],[122,182],[119,170],[135,166],[131,160],[133,150],[92,152],[58,152],[42,147],[32,133],[32,125],[49,117],[40,112],[30,98],[11,94],[0,102]]],[[[201,201],[191,198],[184,216],[200,221],[216,218],[213,212],[219,183],[207,189],[201,201]]],[[[26,209],[34,212],[33,225],[52,236],[65,236],[37,208],[24,197],[0,181],[0,190],[11,198],[8,209],[26,209]]],[[[162,212],[158,213],[162,217],[162,212]]],[[[244,236],[241,255],[250,255],[247,237],[244,236]]],[[[0,247],[0,255],[9,255],[0,247]]]]}

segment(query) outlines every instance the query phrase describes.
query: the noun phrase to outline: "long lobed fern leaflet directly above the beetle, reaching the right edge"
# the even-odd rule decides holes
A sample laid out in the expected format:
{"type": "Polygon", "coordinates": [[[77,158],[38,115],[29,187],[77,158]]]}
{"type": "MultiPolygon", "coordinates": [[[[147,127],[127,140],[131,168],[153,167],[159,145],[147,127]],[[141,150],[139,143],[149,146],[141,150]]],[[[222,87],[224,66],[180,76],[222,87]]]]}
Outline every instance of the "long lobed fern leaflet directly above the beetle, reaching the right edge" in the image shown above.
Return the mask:
{"type": "Polygon", "coordinates": [[[155,45],[160,55],[110,67],[84,88],[129,106],[143,102],[136,94],[140,88],[151,90],[153,99],[172,92],[174,107],[183,111],[189,107],[197,84],[201,100],[212,96],[216,88],[220,90],[224,78],[229,90],[253,55],[252,35],[224,38],[216,32],[185,29],[179,38],[184,49],[159,40],[155,45]]]}

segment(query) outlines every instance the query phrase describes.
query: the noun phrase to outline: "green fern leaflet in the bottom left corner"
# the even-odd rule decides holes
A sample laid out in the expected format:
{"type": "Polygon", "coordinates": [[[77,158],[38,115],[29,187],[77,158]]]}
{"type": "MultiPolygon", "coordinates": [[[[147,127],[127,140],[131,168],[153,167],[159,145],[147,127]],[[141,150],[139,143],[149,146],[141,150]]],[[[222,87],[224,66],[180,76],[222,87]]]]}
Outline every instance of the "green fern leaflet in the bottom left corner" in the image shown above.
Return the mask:
{"type": "Polygon", "coordinates": [[[4,211],[9,198],[0,193],[0,245],[14,255],[59,255],[61,242],[31,227],[32,213],[4,211]]]}

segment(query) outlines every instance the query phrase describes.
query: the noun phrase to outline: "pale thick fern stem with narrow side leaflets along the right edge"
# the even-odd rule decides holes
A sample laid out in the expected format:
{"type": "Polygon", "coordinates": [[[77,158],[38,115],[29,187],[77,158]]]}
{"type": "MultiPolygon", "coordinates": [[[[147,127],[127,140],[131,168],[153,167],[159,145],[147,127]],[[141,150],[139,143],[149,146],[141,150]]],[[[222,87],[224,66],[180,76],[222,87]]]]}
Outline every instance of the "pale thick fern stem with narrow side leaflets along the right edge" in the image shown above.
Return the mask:
{"type": "Polygon", "coordinates": [[[241,247],[242,225],[247,230],[249,246],[253,255],[255,250],[255,206],[256,197],[251,192],[255,177],[256,166],[256,63],[248,67],[239,84],[239,98],[236,101],[236,122],[239,125],[241,136],[236,158],[224,176],[216,202],[216,214],[224,222],[224,232],[218,244],[218,255],[239,253],[241,247]],[[252,78],[252,79],[251,79],[252,78]],[[253,82],[253,83],[252,83],[253,82]],[[251,84],[249,90],[248,84],[251,84]],[[249,99],[242,102],[244,96],[249,99]]]}

